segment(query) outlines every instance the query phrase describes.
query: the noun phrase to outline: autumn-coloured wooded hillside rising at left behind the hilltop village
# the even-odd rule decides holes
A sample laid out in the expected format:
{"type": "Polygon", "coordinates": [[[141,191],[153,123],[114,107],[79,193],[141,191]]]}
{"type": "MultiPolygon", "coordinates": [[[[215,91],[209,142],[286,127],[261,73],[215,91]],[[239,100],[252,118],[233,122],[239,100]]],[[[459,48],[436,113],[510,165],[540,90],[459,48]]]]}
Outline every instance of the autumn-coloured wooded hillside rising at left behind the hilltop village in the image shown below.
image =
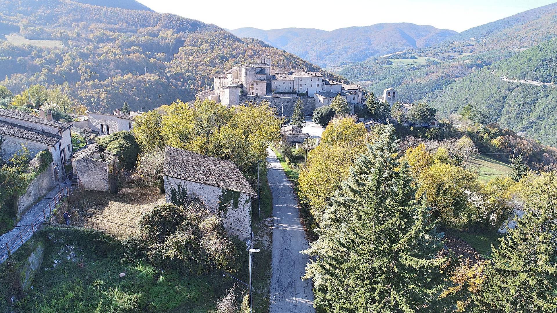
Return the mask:
{"type": "Polygon", "coordinates": [[[95,110],[121,107],[124,101],[133,110],[149,110],[190,100],[212,86],[214,73],[257,56],[269,56],[272,66],[318,69],[294,54],[194,19],[69,0],[0,2],[4,37],[2,85],[14,93],[27,83],[60,87],[95,110]]]}

